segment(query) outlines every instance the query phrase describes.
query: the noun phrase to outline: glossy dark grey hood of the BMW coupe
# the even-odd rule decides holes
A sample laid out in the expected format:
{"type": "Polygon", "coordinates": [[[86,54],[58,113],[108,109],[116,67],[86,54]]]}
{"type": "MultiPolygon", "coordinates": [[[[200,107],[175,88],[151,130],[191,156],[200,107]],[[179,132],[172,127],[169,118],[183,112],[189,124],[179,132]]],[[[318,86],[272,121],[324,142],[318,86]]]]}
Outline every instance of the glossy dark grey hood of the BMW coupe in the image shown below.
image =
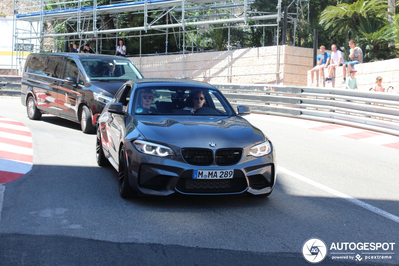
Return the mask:
{"type": "Polygon", "coordinates": [[[242,117],[140,115],[138,129],[148,141],[231,141],[259,143],[265,135],[242,117]]]}

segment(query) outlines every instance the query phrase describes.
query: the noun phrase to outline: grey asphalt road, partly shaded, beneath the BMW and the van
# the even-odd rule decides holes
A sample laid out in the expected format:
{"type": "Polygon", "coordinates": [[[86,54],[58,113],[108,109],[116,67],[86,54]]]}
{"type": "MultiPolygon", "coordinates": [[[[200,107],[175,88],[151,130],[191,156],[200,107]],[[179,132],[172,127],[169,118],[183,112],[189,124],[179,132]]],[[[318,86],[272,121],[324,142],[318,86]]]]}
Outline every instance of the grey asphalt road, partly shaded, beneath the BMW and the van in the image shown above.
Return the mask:
{"type": "Polygon", "coordinates": [[[309,238],[327,245],[319,265],[399,265],[397,149],[250,115],[277,150],[271,196],[125,200],[115,169],[96,164],[94,134],[29,120],[18,97],[0,99],[0,116],[28,126],[34,152],[32,170],[4,185],[0,265],[310,265],[309,238]],[[346,251],[358,262],[333,259],[337,242],[395,244],[346,251]],[[362,254],[374,252],[394,254],[362,254]]]}

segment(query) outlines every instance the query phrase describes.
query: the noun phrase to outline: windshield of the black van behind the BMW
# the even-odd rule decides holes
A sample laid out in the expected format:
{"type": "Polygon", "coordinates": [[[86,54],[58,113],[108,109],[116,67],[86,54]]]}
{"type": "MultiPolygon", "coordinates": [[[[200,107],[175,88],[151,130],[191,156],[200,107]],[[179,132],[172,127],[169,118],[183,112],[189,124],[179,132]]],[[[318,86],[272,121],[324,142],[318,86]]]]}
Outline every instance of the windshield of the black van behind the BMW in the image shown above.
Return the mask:
{"type": "Polygon", "coordinates": [[[132,62],[111,58],[81,59],[83,68],[91,80],[129,80],[142,76],[132,62]]]}

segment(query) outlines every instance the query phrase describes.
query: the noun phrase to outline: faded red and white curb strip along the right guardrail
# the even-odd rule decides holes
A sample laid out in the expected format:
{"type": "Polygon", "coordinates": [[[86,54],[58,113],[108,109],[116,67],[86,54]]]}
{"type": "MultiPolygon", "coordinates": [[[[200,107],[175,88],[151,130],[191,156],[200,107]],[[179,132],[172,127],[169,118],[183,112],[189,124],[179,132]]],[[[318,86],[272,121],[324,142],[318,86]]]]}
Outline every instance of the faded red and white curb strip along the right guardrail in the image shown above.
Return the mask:
{"type": "Polygon", "coordinates": [[[304,127],[323,133],[357,139],[359,141],[365,141],[368,143],[382,145],[385,147],[399,150],[399,137],[385,133],[378,133],[355,127],[347,127],[344,125],[310,121],[305,119],[296,119],[291,117],[281,117],[276,115],[251,114],[250,117],[260,121],[271,121],[276,123],[295,125],[298,127],[304,127]]]}

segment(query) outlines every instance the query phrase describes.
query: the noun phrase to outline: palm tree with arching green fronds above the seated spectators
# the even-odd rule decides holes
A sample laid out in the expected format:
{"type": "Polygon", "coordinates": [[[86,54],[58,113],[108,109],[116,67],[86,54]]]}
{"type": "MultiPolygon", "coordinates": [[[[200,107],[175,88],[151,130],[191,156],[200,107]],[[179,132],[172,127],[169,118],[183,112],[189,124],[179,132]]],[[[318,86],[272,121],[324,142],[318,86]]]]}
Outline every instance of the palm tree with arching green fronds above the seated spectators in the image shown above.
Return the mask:
{"type": "Polygon", "coordinates": [[[370,24],[386,25],[389,6],[386,0],[358,0],[353,4],[328,6],[321,14],[320,24],[331,34],[350,37],[356,26],[366,27],[370,24]]]}

